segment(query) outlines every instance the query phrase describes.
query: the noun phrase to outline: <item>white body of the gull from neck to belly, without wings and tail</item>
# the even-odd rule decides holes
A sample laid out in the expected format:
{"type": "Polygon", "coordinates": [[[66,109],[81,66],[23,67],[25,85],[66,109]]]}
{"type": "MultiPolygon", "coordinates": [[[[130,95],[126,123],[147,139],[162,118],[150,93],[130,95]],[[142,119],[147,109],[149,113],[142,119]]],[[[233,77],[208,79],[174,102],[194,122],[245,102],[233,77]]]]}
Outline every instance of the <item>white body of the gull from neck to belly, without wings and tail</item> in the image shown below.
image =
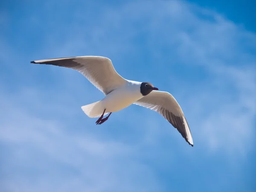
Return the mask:
{"type": "Polygon", "coordinates": [[[128,81],[125,86],[109,93],[104,99],[102,99],[102,105],[106,109],[106,112],[110,113],[120,111],[143,98],[143,95],[140,93],[140,85],[141,82],[128,81]]]}

